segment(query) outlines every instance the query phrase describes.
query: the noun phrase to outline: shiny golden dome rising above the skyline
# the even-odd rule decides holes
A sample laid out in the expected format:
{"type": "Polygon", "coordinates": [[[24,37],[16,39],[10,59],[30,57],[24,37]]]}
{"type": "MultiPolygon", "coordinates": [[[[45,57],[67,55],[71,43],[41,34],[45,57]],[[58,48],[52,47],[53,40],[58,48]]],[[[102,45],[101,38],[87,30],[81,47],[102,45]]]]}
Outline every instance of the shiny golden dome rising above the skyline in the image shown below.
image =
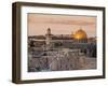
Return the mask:
{"type": "Polygon", "coordinates": [[[73,35],[75,39],[77,40],[83,40],[83,39],[87,39],[87,34],[85,31],[83,31],[82,29],[79,29],[75,35],[73,35]]]}

